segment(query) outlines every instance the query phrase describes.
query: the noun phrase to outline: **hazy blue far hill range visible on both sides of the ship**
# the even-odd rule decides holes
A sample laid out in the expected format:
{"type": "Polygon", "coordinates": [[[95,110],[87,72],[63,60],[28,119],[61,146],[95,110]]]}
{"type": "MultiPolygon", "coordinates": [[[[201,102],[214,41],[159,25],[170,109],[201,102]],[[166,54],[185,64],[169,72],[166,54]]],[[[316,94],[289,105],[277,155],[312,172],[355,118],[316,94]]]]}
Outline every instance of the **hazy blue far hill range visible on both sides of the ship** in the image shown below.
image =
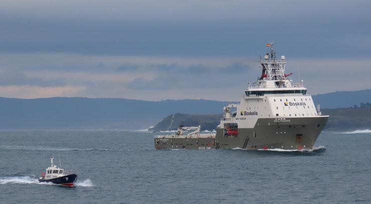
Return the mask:
{"type": "MultiPolygon", "coordinates": [[[[360,102],[371,102],[371,89],[313,95],[313,100],[319,102],[321,108],[350,107],[360,102]]],[[[228,103],[204,99],[145,101],[123,98],[0,97],[0,129],[142,129],[175,112],[221,114],[228,103]]]]}

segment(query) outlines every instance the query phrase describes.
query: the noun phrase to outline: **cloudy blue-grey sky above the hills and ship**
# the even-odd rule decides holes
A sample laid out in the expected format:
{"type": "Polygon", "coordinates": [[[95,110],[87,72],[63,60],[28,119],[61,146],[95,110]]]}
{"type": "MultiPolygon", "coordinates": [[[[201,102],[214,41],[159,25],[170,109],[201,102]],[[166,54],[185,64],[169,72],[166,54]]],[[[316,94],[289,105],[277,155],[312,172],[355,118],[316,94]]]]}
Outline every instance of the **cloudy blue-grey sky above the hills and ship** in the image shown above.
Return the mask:
{"type": "Polygon", "coordinates": [[[371,88],[369,7],[367,0],[3,0],[0,95],[238,100],[271,40],[312,93],[371,88]]]}

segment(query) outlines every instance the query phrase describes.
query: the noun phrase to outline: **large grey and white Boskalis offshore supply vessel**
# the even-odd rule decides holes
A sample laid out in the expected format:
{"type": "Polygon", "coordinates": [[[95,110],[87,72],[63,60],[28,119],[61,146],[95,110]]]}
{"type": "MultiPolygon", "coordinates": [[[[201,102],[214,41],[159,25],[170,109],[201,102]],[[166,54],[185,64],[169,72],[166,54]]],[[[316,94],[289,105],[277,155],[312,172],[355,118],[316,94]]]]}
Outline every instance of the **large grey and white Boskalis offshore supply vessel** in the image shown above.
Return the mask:
{"type": "Polygon", "coordinates": [[[303,85],[285,73],[285,56],[277,59],[273,43],[259,63],[262,74],[250,83],[239,104],[228,104],[216,133],[200,133],[199,127],[182,127],[172,135],[157,135],[156,149],[312,149],[328,115],[303,85]],[[187,135],[183,130],[195,130],[187,135]]]}

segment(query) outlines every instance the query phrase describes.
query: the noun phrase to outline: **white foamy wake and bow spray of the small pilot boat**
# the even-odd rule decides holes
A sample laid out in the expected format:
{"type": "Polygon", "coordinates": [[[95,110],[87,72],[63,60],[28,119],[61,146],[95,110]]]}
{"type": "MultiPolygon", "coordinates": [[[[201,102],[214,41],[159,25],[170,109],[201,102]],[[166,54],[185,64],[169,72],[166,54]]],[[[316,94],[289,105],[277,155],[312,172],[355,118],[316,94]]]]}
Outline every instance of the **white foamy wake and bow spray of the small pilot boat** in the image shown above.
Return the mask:
{"type": "MultiPolygon", "coordinates": [[[[0,177],[0,184],[40,184],[40,185],[58,185],[51,182],[39,182],[38,178],[30,176],[12,176],[12,177],[0,177]]],[[[94,186],[90,179],[83,181],[77,181],[75,186],[90,187],[94,186]]]]}

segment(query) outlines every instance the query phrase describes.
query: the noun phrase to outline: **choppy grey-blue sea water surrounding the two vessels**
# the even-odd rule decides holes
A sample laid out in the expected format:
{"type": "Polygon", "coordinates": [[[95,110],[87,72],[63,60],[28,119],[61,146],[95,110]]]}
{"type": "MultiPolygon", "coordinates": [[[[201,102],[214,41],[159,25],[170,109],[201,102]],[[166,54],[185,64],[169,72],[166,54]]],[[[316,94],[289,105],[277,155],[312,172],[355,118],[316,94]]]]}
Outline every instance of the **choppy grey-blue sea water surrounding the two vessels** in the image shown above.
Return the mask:
{"type": "Polygon", "coordinates": [[[371,132],[313,151],[156,150],[143,131],[0,131],[0,203],[370,203],[371,132]],[[76,187],[39,183],[55,164],[76,187]]]}

